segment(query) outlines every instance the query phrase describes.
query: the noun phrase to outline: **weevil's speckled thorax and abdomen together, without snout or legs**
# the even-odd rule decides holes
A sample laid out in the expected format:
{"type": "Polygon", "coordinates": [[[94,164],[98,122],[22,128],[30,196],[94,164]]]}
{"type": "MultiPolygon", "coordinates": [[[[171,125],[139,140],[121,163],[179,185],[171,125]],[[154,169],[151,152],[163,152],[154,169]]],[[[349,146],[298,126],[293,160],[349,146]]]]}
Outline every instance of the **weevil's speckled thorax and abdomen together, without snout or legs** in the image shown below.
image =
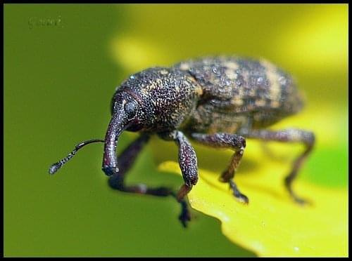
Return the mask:
{"type": "Polygon", "coordinates": [[[143,101],[139,119],[145,125],[128,131],[236,133],[270,126],[303,106],[289,74],[266,60],[236,57],[187,60],[133,74],[117,88],[112,105],[121,92],[143,101]]]}

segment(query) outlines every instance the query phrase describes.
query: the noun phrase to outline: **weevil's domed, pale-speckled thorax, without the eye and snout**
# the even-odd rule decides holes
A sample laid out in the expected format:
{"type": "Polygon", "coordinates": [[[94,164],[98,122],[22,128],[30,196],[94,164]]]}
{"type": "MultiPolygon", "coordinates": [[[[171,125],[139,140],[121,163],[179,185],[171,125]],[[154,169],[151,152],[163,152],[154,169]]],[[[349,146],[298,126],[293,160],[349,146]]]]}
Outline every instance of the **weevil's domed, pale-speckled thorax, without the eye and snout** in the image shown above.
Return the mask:
{"type": "Polygon", "coordinates": [[[187,72],[153,67],[124,81],[115,93],[113,104],[120,92],[128,93],[138,103],[137,119],[127,130],[158,133],[180,126],[196,107],[201,86],[187,72]]]}

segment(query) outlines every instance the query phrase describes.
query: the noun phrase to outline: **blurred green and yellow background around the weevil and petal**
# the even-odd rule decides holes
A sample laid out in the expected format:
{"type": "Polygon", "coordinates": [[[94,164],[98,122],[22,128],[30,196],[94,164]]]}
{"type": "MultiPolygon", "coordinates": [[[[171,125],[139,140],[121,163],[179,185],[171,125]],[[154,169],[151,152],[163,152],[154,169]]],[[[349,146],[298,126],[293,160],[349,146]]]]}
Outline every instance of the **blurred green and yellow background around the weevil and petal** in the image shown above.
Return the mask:
{"type": "MultiPolygon", "coordinates": [[[[254,255],[201,213],[183,229],[173,199],[110,189],[102,145],[85,148],[54,176],[48,168],[77,142],[103,138],[115,86],[129,74],[237,54],[294,75],[306,110],[326,118],[326,126],[315,119],[299,126],[318,136],[301,178],[346,187],[347,13],[346,4],[5,4],[4,255],[254,255]],[[317,169],[321,175],[309,175],[317,169]]],[[[124,133],[120,151],[134,137],[124,133]]],[[[175,149],[164,143],[161,152],[175,149]]],[[[144,149],[127,182],[178,188],[182,178],[156,170],[163,159],[153,150],[144,149]]]]}

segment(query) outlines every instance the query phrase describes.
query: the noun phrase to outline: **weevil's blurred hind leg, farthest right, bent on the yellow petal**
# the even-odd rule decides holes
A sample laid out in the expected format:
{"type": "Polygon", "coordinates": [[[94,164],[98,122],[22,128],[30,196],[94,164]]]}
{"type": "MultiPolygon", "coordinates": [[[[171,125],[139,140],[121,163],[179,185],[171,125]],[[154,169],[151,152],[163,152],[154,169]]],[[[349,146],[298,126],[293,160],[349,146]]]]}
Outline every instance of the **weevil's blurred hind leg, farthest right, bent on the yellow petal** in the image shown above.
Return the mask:
{"type": "Polygon", "coordinates": [[[310,131],[303,131],[294,128],[282,130],[282,131],[270,131],[270,130],[244,130],[239,132],[246,138],[253,138],[259,140],[272,140],[279,142],[302,142],[306,149],[304,152],[298,156],[298,158],[294,161],[291,172],[284,179],[284,184],[289,191],[291,197],[297,203],[303,204],[308,203],[306,200],[301,199],[292,189],[292,182],[297,176],[299,168],[301,168],[303,161],[306,160],[307,156],[313,149],[315,143],[315,135],[310,131]]]}

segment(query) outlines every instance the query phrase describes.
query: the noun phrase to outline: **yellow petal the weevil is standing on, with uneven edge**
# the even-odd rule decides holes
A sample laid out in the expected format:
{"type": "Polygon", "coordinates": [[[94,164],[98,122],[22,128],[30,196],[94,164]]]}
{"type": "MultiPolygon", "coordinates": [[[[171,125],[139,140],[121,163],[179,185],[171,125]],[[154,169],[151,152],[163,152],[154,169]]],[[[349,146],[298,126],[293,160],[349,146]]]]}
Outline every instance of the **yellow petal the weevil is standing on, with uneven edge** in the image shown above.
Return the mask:
{"type": "MultiPolygon", "coordinates": [[[[178,163],[166,161],[159,170],[180,173],[178,163]]],[[[284,191],[279,164],[267,163],[249,176],[238,175],[237,185],[249,205],[237,202],[219,173],[199,169],[199,182],[189,193],[191,207],[222,222],[231,241],[259,256],[346,256],[347,192],[296,182],[297,193],[313,201],[298,206],[284,191]]]]}

